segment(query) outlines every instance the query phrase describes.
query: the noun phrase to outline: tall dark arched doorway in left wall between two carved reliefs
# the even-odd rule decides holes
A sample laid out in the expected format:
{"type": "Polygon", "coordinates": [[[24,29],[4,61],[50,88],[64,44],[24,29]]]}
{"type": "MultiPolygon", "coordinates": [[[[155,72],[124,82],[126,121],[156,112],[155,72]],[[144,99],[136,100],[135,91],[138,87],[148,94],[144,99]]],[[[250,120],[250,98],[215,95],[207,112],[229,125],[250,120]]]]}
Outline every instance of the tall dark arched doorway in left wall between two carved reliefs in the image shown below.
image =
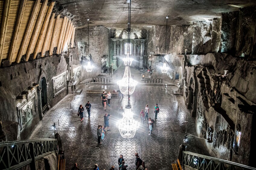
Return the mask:
{"type": "Polygon", "coordinates": [[[37,87],[37,97],[38,97],[38,112],[39,118],[43,119],[44,114],[49,110],[48,103],[48,82],[45,73],[42,73],[39,78],[39,86],[37,87]]]}

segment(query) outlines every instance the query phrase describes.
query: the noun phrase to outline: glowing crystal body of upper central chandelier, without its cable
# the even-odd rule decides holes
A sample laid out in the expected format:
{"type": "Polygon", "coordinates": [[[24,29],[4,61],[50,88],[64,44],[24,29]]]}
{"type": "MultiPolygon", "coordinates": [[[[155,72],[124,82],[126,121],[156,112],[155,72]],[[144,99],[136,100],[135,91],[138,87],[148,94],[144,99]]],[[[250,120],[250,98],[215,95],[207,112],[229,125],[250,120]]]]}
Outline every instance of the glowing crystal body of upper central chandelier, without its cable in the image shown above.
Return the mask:
{"type": "Polygon", "coordinates": [[[133,94],[138,83],[132,79],[130,66],[126,66],[124,70],[123,79],[117,82],[122,94],[133,94]]]}

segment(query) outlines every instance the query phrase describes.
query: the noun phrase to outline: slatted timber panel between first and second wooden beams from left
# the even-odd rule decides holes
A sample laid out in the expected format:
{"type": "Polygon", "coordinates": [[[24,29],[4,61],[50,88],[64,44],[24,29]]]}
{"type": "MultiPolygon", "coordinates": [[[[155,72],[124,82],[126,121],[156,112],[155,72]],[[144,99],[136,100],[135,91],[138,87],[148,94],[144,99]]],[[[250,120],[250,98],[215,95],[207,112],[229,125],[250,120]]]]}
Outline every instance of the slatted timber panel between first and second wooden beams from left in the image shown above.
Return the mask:
{"type": "Polygon", "coordinates": [[[9,13],[8,23],[7,23],[7,31],[5,35],[5,45],[3,49],[2,59],[6,59],[8,55],[8,51],[11,44],[11,38],[14,30],[14,26],[16,23],[16,18],[19,10],[20,1],[12,0],[11,1],[11,9],[9,13]]]}

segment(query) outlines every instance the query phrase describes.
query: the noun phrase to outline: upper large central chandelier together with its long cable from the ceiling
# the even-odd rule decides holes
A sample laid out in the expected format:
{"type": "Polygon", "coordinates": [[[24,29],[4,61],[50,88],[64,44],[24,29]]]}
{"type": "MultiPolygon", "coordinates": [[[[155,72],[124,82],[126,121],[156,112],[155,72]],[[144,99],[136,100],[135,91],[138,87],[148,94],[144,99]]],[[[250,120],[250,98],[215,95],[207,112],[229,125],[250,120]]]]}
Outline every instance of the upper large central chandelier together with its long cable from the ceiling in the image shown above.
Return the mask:
{"type": "Polygon", "coordinates": [[[123,75],[123,79],[117,82],[117,85],[119,86],[120,92],[122,94],[133,94],[136,85],[138,84],[135,80],[131,77],[130,72],[130,65],[132,63],[132,59],[130,59],[130,20],[131,20],[131,8],[130,8],[130,0],[127,0],[128,4],[128,48],[127,48],[127,56],[126,60],[124,60],[125,63],[125,71],[123,75]]]}

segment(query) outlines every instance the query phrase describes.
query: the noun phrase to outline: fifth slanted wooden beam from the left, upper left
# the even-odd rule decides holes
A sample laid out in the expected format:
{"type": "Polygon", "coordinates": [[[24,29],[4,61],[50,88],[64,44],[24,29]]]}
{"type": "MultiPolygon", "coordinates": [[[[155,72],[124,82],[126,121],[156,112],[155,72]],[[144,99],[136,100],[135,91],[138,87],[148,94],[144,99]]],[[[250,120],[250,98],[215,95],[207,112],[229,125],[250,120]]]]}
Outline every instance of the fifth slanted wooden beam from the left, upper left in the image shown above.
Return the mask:
{"type": "Polygon", "coordinates": [[[51,2],[50,5],[49,5],[49,8],[48,8],[48,11],[46,13],[46,16],[45,16],[45,19],[44,19],[44,22],[43,22],[43,26],[42,26],[42,29],[41,29],[41,32],[39,34],[39,37],[37,39],[37,44],[36,44],[36,47],[34,49],[34,57],[33,59],[35,59],[37,57],[37,53],[40,52],[38,51],[38,48],[41,44],[41,41],[43,41],[43,35],[44,35],[44,32],[46,30],[46,26],[50,20],[50,16],[52,14],[52,11],[53,11],[53,6],[54,6],[55,2],[51,2]]]}

